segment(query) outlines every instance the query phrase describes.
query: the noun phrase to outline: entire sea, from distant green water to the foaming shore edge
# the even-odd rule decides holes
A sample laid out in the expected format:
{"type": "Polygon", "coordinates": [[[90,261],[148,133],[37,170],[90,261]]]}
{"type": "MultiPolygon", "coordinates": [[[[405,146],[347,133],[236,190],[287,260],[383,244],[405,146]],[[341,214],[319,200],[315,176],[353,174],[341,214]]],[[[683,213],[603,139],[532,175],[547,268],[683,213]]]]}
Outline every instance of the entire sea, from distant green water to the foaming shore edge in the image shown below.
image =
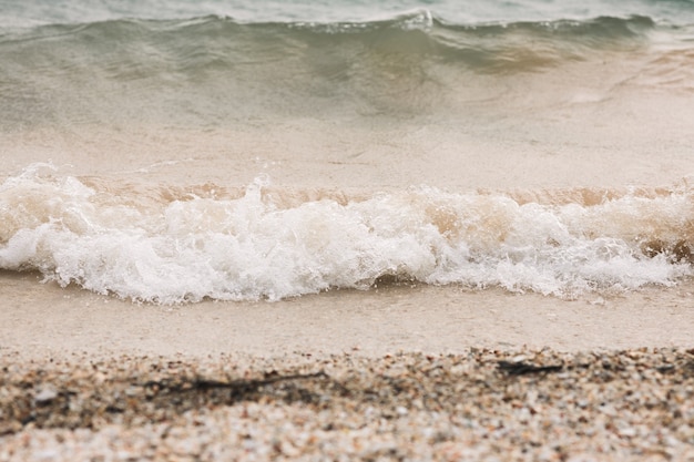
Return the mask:
{"type": "Polygon", "coordinates": [[[688,0],[28,0],[0,63],[0,277],[178,304],[694,276],[688,0]]]}

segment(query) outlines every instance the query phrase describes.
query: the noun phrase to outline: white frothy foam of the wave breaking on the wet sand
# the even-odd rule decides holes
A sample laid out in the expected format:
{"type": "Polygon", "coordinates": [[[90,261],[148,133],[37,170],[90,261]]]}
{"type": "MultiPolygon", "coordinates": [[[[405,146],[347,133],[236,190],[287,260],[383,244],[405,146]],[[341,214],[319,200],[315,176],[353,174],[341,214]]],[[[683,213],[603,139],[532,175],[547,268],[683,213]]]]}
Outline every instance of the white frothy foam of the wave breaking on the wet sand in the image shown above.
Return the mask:
{"type": "Polygon", "coordinates": [[[688,263],[641,250],[687,239],[688,192],[589,206],[418,187],[286,206],[258,178],[242,197],[144,206],[136,192],[95,191],[45,167],[0,186],[0,268],[134,300],[276,300],[366,289],[385,275],[574,297],[692,276],[688,263]]]}

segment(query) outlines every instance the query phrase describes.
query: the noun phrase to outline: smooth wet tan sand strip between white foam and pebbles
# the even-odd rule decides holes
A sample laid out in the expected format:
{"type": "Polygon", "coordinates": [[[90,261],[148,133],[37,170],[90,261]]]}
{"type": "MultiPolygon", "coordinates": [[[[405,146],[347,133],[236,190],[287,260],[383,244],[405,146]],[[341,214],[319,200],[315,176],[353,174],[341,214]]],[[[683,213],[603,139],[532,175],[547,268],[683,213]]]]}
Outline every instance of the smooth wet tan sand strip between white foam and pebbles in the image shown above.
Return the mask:
{"type": "Polygon", "coordinates": [[[523,346],[584,351],[688,347],[694,326],[694,287],[687,283],[578,300],[420,285],[277,302],[155,306],[39,280],[35,274],[0,274],[4,353],[381,356],[523,346]]]}

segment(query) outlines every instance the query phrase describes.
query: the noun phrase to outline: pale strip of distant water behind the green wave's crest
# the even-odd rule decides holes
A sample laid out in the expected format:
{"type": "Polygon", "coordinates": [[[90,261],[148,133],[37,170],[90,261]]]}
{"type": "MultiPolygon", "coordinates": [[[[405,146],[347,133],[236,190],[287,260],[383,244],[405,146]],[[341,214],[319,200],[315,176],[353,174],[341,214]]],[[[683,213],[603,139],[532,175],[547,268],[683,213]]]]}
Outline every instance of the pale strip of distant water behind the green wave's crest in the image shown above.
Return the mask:
{"type": "Polygon", "coordinates": [[[650,17],[655,21],[673,24],[694,22],[694,4],[691,0],[29,0],[3,4],[0,23],[88,23],[125,18],[190,19],[208,14],[229,17],[243,22],[364,22],[390,18],[414,9],[427,9],[436,18],[457,24],[559,19],[582,21],[598,17],[630,16],[650,17]]]}

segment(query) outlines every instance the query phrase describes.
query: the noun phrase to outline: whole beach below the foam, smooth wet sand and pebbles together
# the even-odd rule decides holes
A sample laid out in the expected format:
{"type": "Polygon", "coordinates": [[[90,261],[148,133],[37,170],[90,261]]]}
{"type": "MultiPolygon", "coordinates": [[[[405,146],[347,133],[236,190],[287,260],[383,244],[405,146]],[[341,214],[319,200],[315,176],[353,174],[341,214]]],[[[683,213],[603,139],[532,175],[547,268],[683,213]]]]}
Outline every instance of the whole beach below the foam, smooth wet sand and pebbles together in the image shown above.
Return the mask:
{"type": "Polygon", "coordinates": [[[1,284],[0,461],[694,458],[684,285],[163,307],[1,284]]]}

